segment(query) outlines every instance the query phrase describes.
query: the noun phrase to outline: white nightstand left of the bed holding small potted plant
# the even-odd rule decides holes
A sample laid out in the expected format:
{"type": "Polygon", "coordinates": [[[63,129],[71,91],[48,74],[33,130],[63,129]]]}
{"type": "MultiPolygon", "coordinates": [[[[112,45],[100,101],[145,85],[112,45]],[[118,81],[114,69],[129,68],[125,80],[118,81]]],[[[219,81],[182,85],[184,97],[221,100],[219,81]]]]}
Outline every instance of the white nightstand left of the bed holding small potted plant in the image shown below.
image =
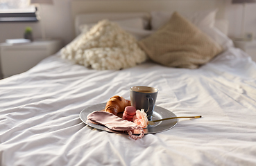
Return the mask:
{"type": "Polygon", "coordinates": [[[3,77],[23,73],[45,57],[62,48],[61,40],[35,41],[28,44],[0,44],[0,62],[3,77]]]}

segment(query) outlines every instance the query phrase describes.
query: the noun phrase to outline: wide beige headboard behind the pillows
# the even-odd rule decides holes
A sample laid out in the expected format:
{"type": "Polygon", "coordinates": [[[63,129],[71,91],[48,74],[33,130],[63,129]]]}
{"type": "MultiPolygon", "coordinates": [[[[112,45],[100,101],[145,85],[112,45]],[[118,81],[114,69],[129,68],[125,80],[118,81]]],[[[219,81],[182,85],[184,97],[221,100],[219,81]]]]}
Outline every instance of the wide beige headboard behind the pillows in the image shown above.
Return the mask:
{"type": "Polygon", "coordinates": [[[73,0],[71,15],[73,22],[77,15],[89,12],[151,12],[210,10],[218,8],[216,19],[224,19],[223,0],[73,0]]]}

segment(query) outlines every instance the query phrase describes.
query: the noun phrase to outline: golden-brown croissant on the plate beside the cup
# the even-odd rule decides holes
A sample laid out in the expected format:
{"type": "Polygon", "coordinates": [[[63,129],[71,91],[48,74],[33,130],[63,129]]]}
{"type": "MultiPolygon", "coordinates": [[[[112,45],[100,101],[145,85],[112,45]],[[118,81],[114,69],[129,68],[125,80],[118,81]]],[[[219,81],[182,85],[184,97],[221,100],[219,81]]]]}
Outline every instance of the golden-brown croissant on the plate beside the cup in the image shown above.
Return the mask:
{"type": "Polygon", "coordinates": [[[123,112],[124,108],[127,106],[130,106],[130,100],[126,100],[119,95],[114,95],[110,100],[108,100],[104,111],[113,113],[117,116],[117,113],[123,112]]]}

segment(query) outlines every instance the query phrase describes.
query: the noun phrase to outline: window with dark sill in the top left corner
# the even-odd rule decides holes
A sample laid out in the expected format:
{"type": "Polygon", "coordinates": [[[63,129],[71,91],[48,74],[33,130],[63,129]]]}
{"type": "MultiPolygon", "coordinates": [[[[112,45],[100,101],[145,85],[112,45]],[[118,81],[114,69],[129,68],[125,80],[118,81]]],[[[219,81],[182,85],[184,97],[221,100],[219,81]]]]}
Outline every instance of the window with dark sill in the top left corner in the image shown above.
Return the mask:
{"type": "Polygon", "coordinates": [[[38,21],[30,0],[0,0],[0,22],[38,21]]]}

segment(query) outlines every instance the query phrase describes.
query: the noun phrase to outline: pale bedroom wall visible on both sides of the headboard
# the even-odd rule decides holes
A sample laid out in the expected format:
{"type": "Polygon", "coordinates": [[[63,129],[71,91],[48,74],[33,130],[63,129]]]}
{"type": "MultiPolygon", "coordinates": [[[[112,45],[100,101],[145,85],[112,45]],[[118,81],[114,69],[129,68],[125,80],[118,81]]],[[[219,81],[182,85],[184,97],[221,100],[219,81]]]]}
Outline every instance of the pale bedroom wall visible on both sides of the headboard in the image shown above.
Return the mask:
{"type": "MultiPolygon", "coordinates": [[[[72,0],[54,0],[54,5],[43,5],[46,37],[63,39],[65,44],[71,42],[74,38],[74,27],[71,21],[70,4],[72,0]]],[[[84,0],[87,1],[87,0],[84,0]]],[[[148,0],[150,1],[150,0],[148,0]]],[[[242,5],[232,4],[232,0],[225,1],[226,17],[230,21],[229,36],[237,37],[241,33],[241,13],[242,5]]],[[[256,35],[256,3],[250,3],[246,6],[246,32],[252,32],[256,35]]],[[[0,24],[0,42],[6,39],[22,38],[24,28],[31,26],[34,30],[35,38],[41,37],[41,22],[36,23],[1,23],[0,24]]]]}

